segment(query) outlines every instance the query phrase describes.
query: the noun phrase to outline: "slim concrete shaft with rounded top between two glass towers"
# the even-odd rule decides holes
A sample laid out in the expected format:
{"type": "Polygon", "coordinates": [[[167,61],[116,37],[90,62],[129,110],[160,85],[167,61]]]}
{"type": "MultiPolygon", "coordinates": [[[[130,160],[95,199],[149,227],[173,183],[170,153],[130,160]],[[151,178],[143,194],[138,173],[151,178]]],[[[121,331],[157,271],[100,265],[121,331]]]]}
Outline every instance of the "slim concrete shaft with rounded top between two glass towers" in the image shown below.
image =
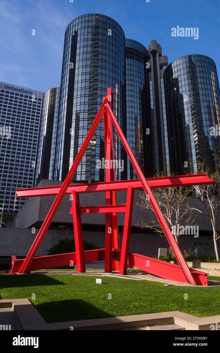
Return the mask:
{"type": "MultiPolygon", "coordinates": [[[[163,87],[163,67],[168,64],[167,56],[162,55],[162,48],[155,40],[148,47],[150,104],[153,119],[154,158],[156,172],[170,173],[167,145],[167,126],[165,96],[163,87]]],[[[153,175],[152,175],[153,176],[153,175]]]]}

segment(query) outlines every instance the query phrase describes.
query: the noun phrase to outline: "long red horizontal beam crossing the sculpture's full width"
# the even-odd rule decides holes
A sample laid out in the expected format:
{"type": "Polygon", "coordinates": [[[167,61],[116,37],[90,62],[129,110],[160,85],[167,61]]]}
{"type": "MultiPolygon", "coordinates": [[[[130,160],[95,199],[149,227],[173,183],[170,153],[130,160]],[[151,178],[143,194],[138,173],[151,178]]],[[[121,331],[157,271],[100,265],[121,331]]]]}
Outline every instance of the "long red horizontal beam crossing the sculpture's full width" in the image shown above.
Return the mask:
{"type": "MultiPolygon", "coordinates": [[[[159,177],[145,179],[150,188],[155,187],[172,187],[172,186],[191,186],[191,185],[206,185],[214,184],[215,181],[207,177],[206,174],[191,174],[191,175],[175,175],[174,177],[159,177]]],[[[128,186],[133,189],[143,189],[139,179],[109,181],[102,183],[91,184],[71,184],[67,187],[65,195],[71,194],[71,190],[78,193],[90,192],[105,192],[105,191],[119,191],[127,190],[128,186]]],[[[48,187],[34,187],[29,189],[17,189],[18,197],[35,197],[35,196],[52,196],[57,195],[61,186],[48,186],[48,187]]]]}

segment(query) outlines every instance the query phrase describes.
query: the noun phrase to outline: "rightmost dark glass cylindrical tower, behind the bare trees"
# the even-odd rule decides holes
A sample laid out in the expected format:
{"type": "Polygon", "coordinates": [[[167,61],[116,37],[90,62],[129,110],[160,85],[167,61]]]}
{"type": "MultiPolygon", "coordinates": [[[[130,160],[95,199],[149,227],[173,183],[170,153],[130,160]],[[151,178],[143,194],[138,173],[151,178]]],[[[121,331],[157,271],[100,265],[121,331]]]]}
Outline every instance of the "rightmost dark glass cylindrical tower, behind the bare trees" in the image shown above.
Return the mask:
{"type": "Polygon", "coordinates": [[[220,91],[214,61],[204,55],[174,60],[164,71],[164,85],[171,172],[182,174],[189,160],[195,167],[205,161],[213,170],[220,148],[220,91]]]}

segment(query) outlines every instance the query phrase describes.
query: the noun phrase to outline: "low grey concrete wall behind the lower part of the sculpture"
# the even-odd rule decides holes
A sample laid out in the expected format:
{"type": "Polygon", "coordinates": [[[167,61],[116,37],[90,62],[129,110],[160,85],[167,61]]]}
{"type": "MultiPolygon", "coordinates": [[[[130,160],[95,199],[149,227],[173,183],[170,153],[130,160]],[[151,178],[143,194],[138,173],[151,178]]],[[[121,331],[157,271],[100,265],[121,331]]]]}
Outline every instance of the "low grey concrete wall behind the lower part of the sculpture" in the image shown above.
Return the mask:
{"type": "MultiPolygon", "coordinates": [[[[36,229],[36,234],[39,229],[36,229]]],[[[30,247],[36,237],[36,234],[31,233],[31,229],[18,229],[18,228],[0,228],[0,256],[26,256],[30,247]]],[[[73,231],[58,231],[48,230],[47,235],[44,237],[36,256],[45,256],[47,249],[57,244],[60,239],[74,238],[73,231]]],[[[83,232],[83,239],[94,243],[96,246],[105,247],[105,233],[104,232],[83,232]]],[[[120,243],[122,234],[120,233],[120,243]]],[[[199,236],[194,238],[192,235],[182,235],[179,238],[180,249],[187,247],[191,250],[196,246],[197,248],[207,248],[208,253],[213,253],[213,240],[212,237],[199,236]],[[196,244],[195,244],[196,243],[196,244]],[[199,244],[201,243],[201,244],[199,244]]],[[[139,234],[131,233],[130,251],[139,253],[146,256],[156,256],[158,248],[169,248],[169,244],[165,237],[160,237],[157,234],[139,234]]],[[[220,249],[220,242],[219,242],[220,249]]]]}

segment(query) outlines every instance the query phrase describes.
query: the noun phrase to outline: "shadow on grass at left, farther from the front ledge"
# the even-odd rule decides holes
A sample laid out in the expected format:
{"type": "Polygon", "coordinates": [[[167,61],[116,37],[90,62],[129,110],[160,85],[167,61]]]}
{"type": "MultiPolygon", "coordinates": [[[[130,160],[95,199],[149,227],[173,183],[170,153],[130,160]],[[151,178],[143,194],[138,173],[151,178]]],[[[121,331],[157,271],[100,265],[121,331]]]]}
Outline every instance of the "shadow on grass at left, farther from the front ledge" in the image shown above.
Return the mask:
{"type": "Polygon", "coordinates": [[[36,287],[36,286],[55,286],[65,285],[66,283],[58,281],[43,274],[35,275],[1,275],[0,289],[14,287],[36,287]]]}

